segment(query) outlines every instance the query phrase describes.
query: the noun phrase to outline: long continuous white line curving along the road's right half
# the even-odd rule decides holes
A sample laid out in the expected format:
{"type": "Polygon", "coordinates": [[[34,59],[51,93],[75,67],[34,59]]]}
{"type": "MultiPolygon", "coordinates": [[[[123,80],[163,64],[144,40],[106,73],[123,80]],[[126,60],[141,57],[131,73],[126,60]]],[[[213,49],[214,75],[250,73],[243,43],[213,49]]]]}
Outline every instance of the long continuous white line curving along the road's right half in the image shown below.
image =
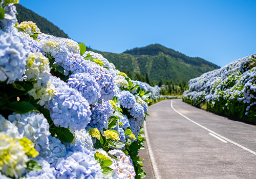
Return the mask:
{"type": "Polygon", "coordinates": [[[212,131],[212,130],[208,129],[207,127],[204,127],[204,126],[202,126],[201,124],[199,124],[199,123],[197,123],[197,122],[195,122],[195,121],[189,119],[188,117],[182,115],[181,113],[179,113],[179,112],[173,107],[173,100],[170,101],[170,107],[172,107],[172,109],[174,109],[174,111],[175,111],[176,113],[178,113],[180,116],[186,118],[188,121],[193,122],[194,124],[197,124],[198,126],[200,126],[200,127],[202,127],[203,129],[207,130],[208,132],[210,132],[210,133],[212,133],[212,134],[214,134],[214,135],[216,135],[216,136],[218,136],[218,137],[220,137],[220,138],[226,140],[227,142],[230,142],[231,144],[236,145],[236,146],[238,146],[238,147],[240,147],[240,148],[242,148],[242,149],[244,149],[244,150],[246,150],[246,151],[248,151],[248,152],[250,152],[250,153],[256,155],[256,152],[254,152],[254,151],[252,151],[252,150],[250,150],[250,149],[248,149],[248,148],[246,148],[246,147],[244,147],[244,146],[242,146],[242,145],[240,145],[240,144],[238,144],[238,143],[236,143],[236,142],[234,142],[234,141],[231,141],[230,139],[225,138],[224,136],[221,136],[219,133],[216,133],[215,131],[212,131]]]}

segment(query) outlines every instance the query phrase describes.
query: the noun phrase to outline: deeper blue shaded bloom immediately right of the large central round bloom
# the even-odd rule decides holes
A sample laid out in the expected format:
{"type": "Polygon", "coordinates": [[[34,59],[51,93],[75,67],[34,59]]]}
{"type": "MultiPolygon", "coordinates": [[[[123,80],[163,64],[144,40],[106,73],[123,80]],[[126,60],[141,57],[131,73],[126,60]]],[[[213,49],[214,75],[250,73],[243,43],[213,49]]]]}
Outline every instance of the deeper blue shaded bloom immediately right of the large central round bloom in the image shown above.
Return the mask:
{"type": "Polygon", "coordinates": [[[102,101],[102,103],[97,103],[92,108],[92,116],[90,126],[92,128],[97,127],[99,131],[103,128],[108,129],[109,117],[113,115],[113,107],[110,101],[102,101]]]}

